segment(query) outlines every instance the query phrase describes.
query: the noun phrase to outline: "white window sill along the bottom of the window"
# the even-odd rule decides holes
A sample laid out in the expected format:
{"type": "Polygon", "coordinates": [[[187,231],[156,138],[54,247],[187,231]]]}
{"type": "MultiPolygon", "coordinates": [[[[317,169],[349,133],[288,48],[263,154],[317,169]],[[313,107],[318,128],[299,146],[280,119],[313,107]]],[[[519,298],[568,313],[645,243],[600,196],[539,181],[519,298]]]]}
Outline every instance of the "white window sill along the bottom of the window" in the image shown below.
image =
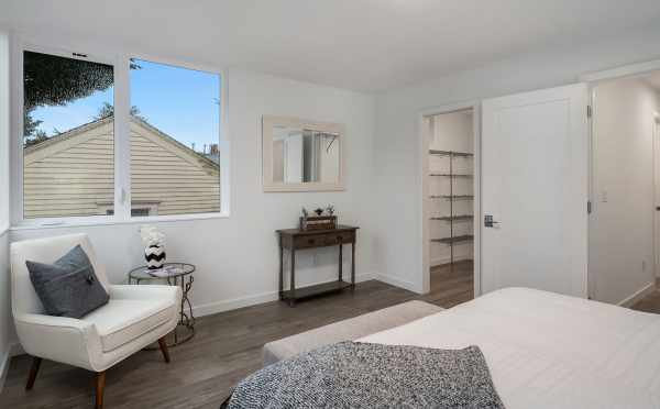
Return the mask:
{"type": "MultiPolygon", "coordinates": [[[[172,214],[172,215],[147,215],[131,218],[129,220],[120,220],[107,217],[90,217],[90,218],[67,218],[67,219],[50,219],[50,220],[28,220],[16,223],[9,228],[11,231],[20,230],[42,230],[42,229],[67,229],[67,228],[85,228],[97,225],[113,225],[113,224],[151,224],[151,223],[169,223],[185,222],[194,220],[208,219],[228,219],[229,212],[220,213],[198,213],[198,214],[172,214]]],[[[1,230],[0,230],[1,232],[1,230]]],[[[0,233],[1,234],[1,233],[0,233]]]]}

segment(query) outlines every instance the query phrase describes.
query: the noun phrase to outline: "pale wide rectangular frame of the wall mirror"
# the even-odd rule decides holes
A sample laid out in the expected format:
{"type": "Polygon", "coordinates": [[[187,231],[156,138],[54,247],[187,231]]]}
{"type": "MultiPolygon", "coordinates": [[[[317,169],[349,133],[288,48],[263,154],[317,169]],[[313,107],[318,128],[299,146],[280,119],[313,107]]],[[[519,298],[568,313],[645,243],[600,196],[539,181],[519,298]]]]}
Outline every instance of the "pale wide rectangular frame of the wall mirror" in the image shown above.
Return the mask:
{"type": "Polygon", "coordinates": [[[345,132],[340,123],[307,121],[292,117],[263,115],[262,118],[262,178],[264,191],[338,191],[345,190],[345,132]],[[299,184],[276,183],[273,180],[273,128],[288,126],[296,129],[314,130],[318,132],[334,133],[339,135],[339,178],[337,183],[324,184],[307,181],[299,184]]]}

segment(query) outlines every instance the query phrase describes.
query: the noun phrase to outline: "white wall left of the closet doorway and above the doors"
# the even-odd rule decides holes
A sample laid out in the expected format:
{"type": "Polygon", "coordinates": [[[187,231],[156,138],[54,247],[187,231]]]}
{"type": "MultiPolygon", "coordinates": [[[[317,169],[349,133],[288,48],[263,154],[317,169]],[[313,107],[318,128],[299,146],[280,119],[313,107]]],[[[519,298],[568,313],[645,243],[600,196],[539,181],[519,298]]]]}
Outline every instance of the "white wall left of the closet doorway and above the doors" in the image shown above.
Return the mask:
{"type": "Polygon", "coordinates": [[[660,56],[660,26],[593,44],[554,47],[378,96],[374,165],[378,212],[375,259],[384,279],[422,289],[418,114],[425,109],[575,82],[597,71],[660,56]]]}

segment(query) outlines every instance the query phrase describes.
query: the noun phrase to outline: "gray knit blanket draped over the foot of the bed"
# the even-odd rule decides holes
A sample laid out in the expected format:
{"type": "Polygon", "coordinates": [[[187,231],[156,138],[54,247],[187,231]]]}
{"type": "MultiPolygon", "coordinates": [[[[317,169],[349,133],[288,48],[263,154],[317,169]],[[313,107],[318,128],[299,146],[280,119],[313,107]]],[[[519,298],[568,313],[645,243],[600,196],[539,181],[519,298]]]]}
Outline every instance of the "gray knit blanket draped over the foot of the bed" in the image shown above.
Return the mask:
{"type": "Polygon", "coordinates": [[[477,346],[340,342],[241,382],[228,408],[504,408],[477,346]]]}

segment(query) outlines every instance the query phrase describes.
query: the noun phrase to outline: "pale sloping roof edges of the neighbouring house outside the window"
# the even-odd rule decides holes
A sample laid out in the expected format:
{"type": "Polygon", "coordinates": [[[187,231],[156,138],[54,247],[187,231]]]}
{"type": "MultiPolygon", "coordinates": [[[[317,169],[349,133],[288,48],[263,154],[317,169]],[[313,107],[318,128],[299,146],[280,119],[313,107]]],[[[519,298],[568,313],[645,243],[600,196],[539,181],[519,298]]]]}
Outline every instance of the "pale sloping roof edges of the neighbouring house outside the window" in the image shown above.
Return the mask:
{"type": "MultiPolygon", "coordinates": [[[[48,147],[56,148],[56,145],[59,145],[65,141],[72,141],[76,136],[87,135],[89,133],[89,131],[92,131],[97,128],[106,125],[106,124],[112,122],[112,120],[113,120],[113,117],[106,117],[106,118],[102,118],[102,119],[99,119],[99,120],[96,120],[92,122],[85,123],[80,126],[76,126],[76,128],[74,128],[69,131],[63,132],[56,136],[52,136],[43,142],[40,142],[34,145],[30,145],[30,146],[25,147],[24,155],[31,156],[32,154],[36,154],[37,152],[43,151],[48,147]]],[[[195,152],[194,150],[191,150],[188,146],[184,145],[183,143],[178,142],[177,140],[169,136],[165,132],[158,130],[157,128],[150,124],[148,122],[146,122],[138,117],[134,117],[134,115],[131,115],[131,122],[146,129],[147,131],[151,132],[151,134],[156,135],[157,137],[162,139],[167,144],[173,145],[173,147],[182,150],[183,153],[193,156],[195,159],[199,161],[200,165],[202,165],[204,167],[210,167],[213,170],[219,170],[218,162],[213,161],[212,158],[207,157],[204,154],[195,152]]]]}

